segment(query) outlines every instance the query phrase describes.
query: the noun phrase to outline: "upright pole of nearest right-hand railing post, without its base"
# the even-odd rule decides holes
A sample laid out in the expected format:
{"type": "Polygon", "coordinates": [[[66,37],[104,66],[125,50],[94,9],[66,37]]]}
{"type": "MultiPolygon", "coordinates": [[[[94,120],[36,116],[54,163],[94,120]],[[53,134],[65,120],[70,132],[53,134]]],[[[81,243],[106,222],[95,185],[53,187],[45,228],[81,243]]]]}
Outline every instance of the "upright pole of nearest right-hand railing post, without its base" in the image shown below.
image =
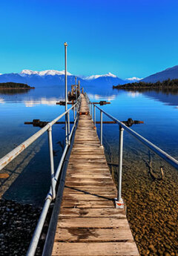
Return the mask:
{"type": "Polygon", "coordinates": [[[117,200],[122,200],[122,158],[123,158],[123,133],[124,128],[119,125],[119,170],[118,170],[118,194],[117,200]]]}

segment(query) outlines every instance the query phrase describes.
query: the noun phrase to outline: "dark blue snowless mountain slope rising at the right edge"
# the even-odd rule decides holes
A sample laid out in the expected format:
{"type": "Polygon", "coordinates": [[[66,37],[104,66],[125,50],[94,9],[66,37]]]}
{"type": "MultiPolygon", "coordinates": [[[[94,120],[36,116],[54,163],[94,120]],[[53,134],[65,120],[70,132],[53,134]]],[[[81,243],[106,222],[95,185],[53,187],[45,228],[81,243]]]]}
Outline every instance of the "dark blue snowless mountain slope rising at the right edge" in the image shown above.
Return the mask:
{"type": "Polygon", "coordinates": [[[167,79],[178,79],[178,65],[172,68],[167,68],[161,72],[154,73],[151,76],[147,76],[142,79],[143,82],[157,82],[157,81],[164,81],[167,79]]]}

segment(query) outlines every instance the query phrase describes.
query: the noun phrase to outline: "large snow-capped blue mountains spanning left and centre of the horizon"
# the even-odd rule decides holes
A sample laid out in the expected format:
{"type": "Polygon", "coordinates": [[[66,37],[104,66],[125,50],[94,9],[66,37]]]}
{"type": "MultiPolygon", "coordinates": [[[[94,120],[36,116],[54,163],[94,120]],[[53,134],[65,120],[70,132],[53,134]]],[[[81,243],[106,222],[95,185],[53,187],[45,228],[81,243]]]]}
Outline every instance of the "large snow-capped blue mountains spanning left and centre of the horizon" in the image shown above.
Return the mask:
{"type": "MultiPolygon", "coordinates": [[[[93,76],[74,76],[67,72],[67,83],[73,85],[75,83],[75,77],[81,82],[81,86],[105,86],[122,85],[125,81],[119,79],[119,77],[112,73],[105,75],[93,75],[93,76]]],[[[22,70],[20,73],[4,73],[0,76],[0,82],[22,82],[30,86],[43,87],[43,86],[56,86],[65,84],[65,70],[22,70]]]]}

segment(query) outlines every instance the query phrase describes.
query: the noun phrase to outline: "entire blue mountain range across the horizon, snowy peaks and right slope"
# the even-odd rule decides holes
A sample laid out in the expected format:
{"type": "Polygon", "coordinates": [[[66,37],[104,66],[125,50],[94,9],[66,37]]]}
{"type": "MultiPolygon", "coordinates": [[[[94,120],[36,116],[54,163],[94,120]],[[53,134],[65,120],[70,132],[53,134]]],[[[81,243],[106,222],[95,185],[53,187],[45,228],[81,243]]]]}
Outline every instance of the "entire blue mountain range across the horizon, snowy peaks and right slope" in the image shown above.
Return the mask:
{"type": "MultiPolygon", "coordinates": [[[[151,76],[147,76],[144,79],[138,77],[120,79],[113,73],[107,73],[105,75],[92,75],[92,76],[75,76],[67,72],[67,84],[73,85],[75,83],[75,77],[80,80],[82,86],[97,86],[103,88],[105,86],[112,87],[113,85],[124,85],[128,82],[156,82],[163,81],[165,79],[178,79],[178,65],[173,68],[167,68],[159,73],[154,73],[151,76]]],[[[44,86],[57,86],[65,84],[65,70],[22,70],[21,73],[0,73],[0,82],[19,82],[35,87],[44,86]]]]}

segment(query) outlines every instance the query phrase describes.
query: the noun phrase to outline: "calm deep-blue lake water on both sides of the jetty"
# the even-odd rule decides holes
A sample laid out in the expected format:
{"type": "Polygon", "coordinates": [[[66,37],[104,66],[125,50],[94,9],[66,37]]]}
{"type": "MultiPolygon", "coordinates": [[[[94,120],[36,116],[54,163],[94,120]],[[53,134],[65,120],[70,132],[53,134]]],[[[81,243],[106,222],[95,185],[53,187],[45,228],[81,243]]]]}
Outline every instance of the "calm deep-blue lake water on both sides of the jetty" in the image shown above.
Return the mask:
{"type": "MultiPolygon", "coordinates": [[[[110,105],[102,108],[119,120],[127,120],[131,117],[144,121],[143,125],[134,125],[133,130],[178,159],[178,92],[174,94],[156,91],[139,93],[88,88],[88,96],[93,102],[98,100],[111,102],[110,105]]],[[[25,121],[33,119],[50,121],[62,114],[65,107],[56,105],[56,102],[62,99],[64,99],[62,88],[36,88],[16,94],[0,91],[0,157],[39,130],[32,125],[24,125],[25,121]]],[[[99,120],[99,111],[96,111],[96,119],[99,120]]],[[[103,116],[103,119],[109,120],[106,116],[103,116]]],[[[99,125],[97,126],[99,133],[99,125]]],[[[104,142],[117,148],[118,125],[103,125],[103,132],[104,142]]],[[[125,147],[129,140],[128,134],[125,134],[125,147]]],[[[62,154],[60,143],[63,144],[64,141],[64,125],[54,125],[55,166],[62,154]]],[[[133,140],[132,143],[134,146],[137,142],[133,140]]],[[[4,169],[4,172],[10,174],[9,183],[12,183],[8,186],[7,182],[1,181],[0,190],[7,186],[4,197],[24,203],[41,203],[50,185],[48,155],[46,133],[4,169]]]]}

